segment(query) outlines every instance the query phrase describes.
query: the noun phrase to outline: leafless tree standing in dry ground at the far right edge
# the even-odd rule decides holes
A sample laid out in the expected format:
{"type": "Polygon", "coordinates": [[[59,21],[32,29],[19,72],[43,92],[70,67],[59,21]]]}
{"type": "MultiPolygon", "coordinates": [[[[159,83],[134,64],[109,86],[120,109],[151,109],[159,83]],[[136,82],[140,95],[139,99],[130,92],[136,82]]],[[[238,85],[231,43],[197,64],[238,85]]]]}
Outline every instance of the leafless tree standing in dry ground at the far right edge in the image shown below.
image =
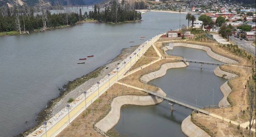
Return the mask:
{"type": "Polygon", "coordinates": [[[253,127],[255,119],[255,90],[252,86],[249,85],[247,89],[247,94],[249,98],[249,115],[247,115],[249,120],[249,135],[251,135],[251,127],[253,127]]]}

